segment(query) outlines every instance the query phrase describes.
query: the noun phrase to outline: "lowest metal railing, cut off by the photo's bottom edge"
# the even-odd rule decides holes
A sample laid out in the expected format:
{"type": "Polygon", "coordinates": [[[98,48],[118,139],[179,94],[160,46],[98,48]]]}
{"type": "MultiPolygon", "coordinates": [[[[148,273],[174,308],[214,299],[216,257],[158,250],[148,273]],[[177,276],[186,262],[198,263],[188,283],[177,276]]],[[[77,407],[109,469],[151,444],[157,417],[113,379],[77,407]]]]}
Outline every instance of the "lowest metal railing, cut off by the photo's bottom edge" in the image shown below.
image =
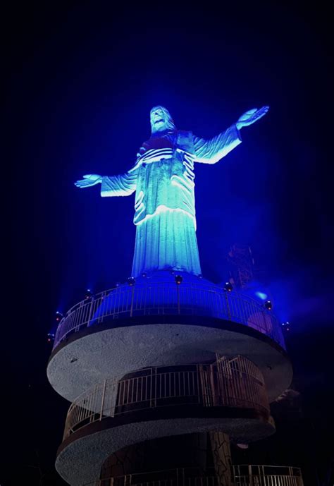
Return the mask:
{"type": "Polygon", "coordinates": [[[208,469],[199,475],[198,468],[178,468],[128,474],[100,479],[84,486],[303,486],[300,468],[290,466],[232,466],[233,485],[208,469]]]}

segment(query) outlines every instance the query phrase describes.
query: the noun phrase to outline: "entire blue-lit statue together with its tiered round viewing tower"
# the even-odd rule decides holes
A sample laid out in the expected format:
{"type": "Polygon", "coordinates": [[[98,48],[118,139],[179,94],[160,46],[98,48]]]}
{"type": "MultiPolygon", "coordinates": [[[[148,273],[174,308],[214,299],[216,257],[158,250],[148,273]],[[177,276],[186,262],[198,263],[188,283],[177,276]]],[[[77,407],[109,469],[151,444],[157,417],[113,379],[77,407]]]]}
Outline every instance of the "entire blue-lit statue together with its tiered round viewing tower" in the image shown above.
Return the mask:
{"type": "Polygon", "coordinates": [[[132,169],[76,183],[136,191],[137,233],[132,277],[68,310],[56,332],[47,372],[72,402],[56,459],[70,485],[302,485],[295,468],[232,463],[230,442],[275,431],[269,403],[292,369],[273,313],[202,278],[195,233],[194,162],[218,162],[266,111],[206,141],[155,107],[132,169]]]}

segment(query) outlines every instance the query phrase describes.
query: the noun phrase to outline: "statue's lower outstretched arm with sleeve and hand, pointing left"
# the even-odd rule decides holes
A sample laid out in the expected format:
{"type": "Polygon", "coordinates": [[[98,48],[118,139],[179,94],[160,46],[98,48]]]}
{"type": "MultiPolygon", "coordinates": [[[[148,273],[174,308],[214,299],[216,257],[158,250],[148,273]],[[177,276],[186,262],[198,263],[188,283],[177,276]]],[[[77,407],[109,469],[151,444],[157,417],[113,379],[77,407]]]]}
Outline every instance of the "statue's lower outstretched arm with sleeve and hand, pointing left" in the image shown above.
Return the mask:
{"type": "Polygon", "coordinates": [[[101,184],[101,196],[128,196],[135,192],[137,185],[137,171],[128,171],[120,176],[99,176],[86,174],[83,179],[75,182],[78,188],[89,188],[101,184]]]}

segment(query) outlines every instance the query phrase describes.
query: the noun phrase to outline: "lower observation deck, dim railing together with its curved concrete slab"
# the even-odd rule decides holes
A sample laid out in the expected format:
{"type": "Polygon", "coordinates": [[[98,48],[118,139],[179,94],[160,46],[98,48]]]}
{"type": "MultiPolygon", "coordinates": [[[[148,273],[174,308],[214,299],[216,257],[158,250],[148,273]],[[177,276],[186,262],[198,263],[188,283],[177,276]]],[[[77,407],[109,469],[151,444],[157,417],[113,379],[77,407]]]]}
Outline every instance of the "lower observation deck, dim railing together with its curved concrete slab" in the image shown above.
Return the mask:
{"type": "Polygon", "coordinates": [[[276,430],[264,378],[243,356],[217,358],[211,365],[150,367],[96,384],[68,410],[56,468],[70,484],[82,485],[97,478],[120,449],[210,430],[242,443],[276,430]]]}

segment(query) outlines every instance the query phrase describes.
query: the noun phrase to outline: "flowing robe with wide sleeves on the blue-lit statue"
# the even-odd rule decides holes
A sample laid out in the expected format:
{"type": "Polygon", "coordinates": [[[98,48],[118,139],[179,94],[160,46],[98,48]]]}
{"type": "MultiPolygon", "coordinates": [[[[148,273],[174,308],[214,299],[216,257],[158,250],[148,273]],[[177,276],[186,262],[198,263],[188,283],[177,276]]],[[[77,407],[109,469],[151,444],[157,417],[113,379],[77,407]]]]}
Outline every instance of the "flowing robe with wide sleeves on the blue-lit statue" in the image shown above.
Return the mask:
{"type": "Polygon", "coordinates": [[[154,269],[201,274],[196,238],[194,162],[216,164],[241,142],[233,125],[211,140],[191,132],[156,133],[125,174],[102,178],[101,196],[136,191],[132,276],[154,269]]]}

